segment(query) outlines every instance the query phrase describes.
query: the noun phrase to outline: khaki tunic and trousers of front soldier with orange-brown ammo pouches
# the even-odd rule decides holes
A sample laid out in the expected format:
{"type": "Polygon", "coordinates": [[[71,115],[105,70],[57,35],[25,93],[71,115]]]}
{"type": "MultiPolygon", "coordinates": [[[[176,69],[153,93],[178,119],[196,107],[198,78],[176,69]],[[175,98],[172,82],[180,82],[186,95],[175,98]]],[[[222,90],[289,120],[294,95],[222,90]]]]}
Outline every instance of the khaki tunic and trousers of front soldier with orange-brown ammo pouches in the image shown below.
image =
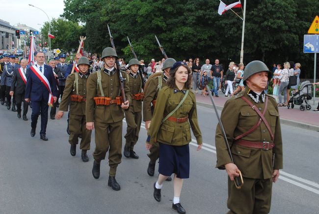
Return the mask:
{"type": "MultiPolygon", "coordinates": [[[[122,72],[125,78],[126,73],[122,72]]],[[[94,122],[95,128],[95,151],[94,160],[98,163],[105,159],[108,151],[108,164],[110,166],[109,175],[115,176],[117,165],[121,162],[122,154],[122,126],[124,110],[121,106],[111,104],[109,106],[95,105],[94,97],[101,97],[100,87],[97,84],[97,73],[89,76],[87,81],[86,100],[86,122],[94,122]],[[120,136],[120,137],[119,137],[120,136]]],[[[118,74],[107,75],[101,70],[101,83],[104,95],[115,100],[121,96],[118,74]]],[[[126,99],[132,103],[130,87],[127,80],[124,80],[124,91],[126,99]]]]}

